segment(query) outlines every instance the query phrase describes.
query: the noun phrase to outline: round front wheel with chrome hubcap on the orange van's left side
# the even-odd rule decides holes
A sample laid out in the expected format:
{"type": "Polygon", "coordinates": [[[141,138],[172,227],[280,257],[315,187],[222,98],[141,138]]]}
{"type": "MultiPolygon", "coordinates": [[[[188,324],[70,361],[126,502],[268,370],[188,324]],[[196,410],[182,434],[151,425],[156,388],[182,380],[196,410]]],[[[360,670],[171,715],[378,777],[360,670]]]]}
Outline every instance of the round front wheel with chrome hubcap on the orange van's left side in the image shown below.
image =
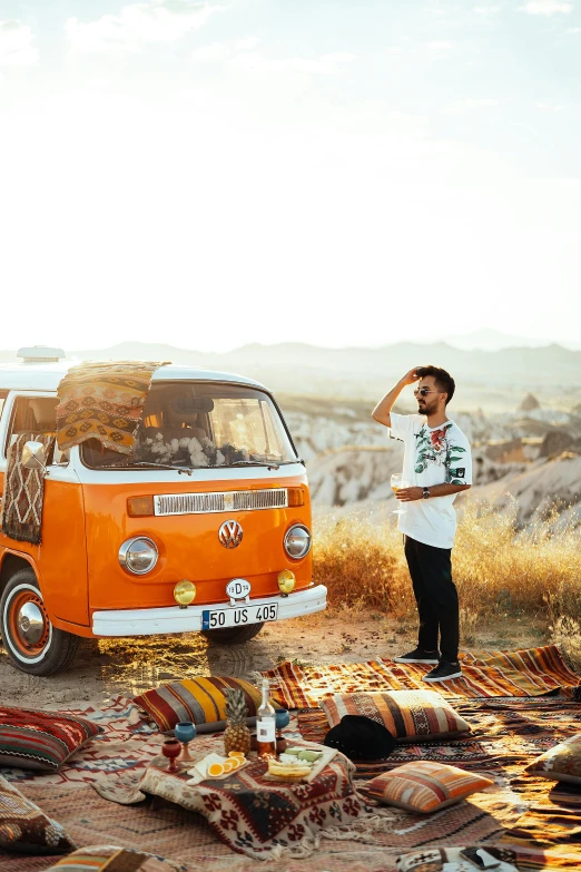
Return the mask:
{"type": "Polygon", "coordinates": [[[0,620],[7,654],[24,673],[55,675],[75,657],[79,637],[52,626],[32,569],[20,569],[8,581],[0,620]]]}

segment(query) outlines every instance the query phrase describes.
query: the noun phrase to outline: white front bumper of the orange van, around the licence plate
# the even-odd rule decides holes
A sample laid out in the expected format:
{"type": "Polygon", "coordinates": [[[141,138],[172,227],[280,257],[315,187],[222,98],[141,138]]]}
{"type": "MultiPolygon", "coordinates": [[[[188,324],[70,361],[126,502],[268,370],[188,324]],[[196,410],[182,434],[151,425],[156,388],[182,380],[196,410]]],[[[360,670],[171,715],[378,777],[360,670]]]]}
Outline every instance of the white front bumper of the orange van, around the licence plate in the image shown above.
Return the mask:
{"type": "MultiPolygon", "coordinates": [[[[307,590],[297,590],[287,597],[274,595],[252,599],[249,605],[268,606],[272,602],[278,604],[277,620],[301,618],[303,615],[313,615],[315,611],[323,611],[326,608],[327,588],[324,585],[317,585],[307,590]]],[[[238,602],[236,606],[230,606],[227,602],[210,602],[187,608],[169,606],[167,608],[93,611],[92,631],[95,636],[155,636],[158,633],[196,633],[201,630],[203,611],[239,608],[243,605],[245,604],[238,602]]]]}

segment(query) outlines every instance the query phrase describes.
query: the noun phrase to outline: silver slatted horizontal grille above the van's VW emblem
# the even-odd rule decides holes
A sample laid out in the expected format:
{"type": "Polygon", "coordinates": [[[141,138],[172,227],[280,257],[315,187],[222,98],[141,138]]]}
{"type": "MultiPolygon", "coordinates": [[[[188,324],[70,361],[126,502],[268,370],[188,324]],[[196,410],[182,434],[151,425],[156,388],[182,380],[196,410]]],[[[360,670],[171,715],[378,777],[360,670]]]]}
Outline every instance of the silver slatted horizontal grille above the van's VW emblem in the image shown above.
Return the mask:
{"type": "Polygon", "coordinates": [[[229,490],[215,493],[161,493],[154,497],[156,515],[206,515],[216,511],[286,509],[286,488],[229,490]]]}

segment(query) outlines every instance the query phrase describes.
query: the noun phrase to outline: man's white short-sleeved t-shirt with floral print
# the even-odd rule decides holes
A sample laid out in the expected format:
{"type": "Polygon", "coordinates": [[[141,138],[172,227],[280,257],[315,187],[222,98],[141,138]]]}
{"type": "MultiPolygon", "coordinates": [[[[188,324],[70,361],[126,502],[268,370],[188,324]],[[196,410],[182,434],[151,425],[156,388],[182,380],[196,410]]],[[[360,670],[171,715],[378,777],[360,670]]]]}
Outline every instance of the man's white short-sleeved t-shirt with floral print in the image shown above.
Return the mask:
{"type": "MultiPolygon", "coordinates": [[[[403,477],[410,488],[433,484],[472,484],[470,442],[462,430],[446,421],[427,427],[423,414],[390,414],[391,435],[405,445],[403,477]]],[[[456,532],[455,493],[400,503],[400,530],[424,545],[452,548],[456,532]]]]}

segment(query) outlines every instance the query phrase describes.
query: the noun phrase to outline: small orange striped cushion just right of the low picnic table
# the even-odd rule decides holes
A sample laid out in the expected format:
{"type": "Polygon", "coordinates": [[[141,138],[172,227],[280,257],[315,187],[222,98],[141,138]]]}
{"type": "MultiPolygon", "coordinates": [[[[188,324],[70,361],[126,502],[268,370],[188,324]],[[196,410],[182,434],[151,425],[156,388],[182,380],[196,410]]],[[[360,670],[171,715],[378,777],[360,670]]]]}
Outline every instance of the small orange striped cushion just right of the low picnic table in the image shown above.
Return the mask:
{"type": "Polygon", "coordinates": [[[368,781],[363,790],[374,800],[410,812],[435,812],[494,784],[456,766],[418,761],[404,763],[368,781]]]}

